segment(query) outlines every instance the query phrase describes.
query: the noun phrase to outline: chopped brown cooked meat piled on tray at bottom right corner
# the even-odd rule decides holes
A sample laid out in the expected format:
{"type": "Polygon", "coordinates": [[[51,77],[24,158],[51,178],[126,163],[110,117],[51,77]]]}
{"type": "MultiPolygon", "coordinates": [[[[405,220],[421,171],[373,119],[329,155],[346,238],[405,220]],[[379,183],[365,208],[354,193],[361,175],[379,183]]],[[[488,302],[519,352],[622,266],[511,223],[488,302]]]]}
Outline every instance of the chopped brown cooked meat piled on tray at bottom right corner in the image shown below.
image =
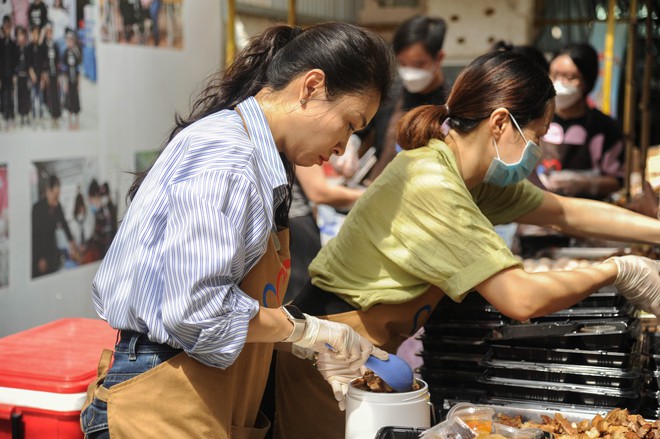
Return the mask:
{"type": "Polygon", "coordinates": [[[502,413],[498,413],[496,418],[496,422],[511,427],[539,428],[552,433],[555,439],[660,439],[660,421],[647,421],[626,409],[614,409],[605,417],[596,415],[591,420],[580,422],[570,422],[561,413],[556,413],[554,417],[541,415],[542,422],[523,421],[520,415],[510,417],[502,413]]]}

